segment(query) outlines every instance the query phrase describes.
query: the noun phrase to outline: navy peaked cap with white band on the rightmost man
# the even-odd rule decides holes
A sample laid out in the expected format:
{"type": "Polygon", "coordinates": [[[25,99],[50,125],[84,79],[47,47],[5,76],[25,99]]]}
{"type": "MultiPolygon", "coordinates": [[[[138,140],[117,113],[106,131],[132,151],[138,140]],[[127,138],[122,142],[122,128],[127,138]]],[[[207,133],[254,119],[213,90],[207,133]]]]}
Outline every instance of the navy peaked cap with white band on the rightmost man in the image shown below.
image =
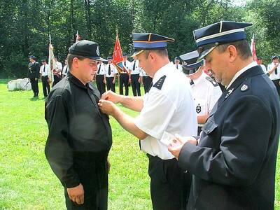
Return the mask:
{"type": "Polygon", "coordinates": [[[251,25],[249,22],[221,21],[193,31],[200,53],[198,59],[203,59],[218,45],[246,39],[244,28],[251,25]]]}

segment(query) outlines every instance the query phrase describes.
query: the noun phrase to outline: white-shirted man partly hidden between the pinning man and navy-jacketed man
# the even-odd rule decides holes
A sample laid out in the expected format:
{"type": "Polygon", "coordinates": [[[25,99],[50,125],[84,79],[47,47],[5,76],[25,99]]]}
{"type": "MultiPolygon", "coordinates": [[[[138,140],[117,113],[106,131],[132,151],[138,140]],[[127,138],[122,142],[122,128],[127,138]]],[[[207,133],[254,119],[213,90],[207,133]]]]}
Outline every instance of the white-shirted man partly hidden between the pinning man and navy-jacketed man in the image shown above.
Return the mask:
{"type": "Polygon", "coordinates": [[[197,62],[197,50],[188,52],[180,57],[186,62],[186,65],[183,64],[183,72],[190,79],[190,87],[193,90],[198,123],[197,135],[200,135],[202,127],[218,98],[221,97],[222,91],[214,78],[204,73],[203,61],[197,62]]]}

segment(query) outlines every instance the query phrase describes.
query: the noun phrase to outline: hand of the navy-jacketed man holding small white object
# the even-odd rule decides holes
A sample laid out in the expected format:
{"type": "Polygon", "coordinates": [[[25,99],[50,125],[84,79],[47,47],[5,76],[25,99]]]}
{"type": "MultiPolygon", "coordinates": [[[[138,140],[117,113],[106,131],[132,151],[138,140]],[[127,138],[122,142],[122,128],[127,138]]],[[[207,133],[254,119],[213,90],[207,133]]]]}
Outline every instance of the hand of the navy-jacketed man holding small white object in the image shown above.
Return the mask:
{"type": "Polygon", "coordinates": [[[187,142],[190,144],[197,145],[197,139],[195,137],[181,137],[180,135],[176,134],[175,139],[172,140],[172,142],[168,146],[168,150],[174,157],[178,160],[179,154],[181,152],[182,147],[187,142]]]}

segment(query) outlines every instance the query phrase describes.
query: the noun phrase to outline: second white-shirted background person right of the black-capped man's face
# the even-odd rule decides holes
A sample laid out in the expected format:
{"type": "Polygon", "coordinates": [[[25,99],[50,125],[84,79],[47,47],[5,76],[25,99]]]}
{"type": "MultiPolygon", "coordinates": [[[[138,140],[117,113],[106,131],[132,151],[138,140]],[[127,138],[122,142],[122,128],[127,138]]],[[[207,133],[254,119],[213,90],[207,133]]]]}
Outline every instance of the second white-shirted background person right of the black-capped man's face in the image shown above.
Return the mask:
{"type": "Polygon", "coordinates": [[[108,64],[106,64],[105,66],[105,73],[107,91],[112,90],[113,92],[116,92],[115,83],[116,74],[118,73],[118,70],[116,69],[116,66],[114,66],[112,63],[112,57],[108,57],[108,64]]]}

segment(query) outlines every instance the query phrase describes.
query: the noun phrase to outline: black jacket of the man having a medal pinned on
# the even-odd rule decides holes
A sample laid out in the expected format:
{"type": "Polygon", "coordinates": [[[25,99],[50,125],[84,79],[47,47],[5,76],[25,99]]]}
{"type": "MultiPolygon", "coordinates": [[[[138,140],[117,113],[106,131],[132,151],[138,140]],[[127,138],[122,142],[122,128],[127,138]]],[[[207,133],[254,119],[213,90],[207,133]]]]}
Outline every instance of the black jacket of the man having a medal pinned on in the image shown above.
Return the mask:
{"type": "Polygon", "coordinates": [[[91,83],[83,85],[68,72],[45,102],[45,120],[49,129],[45,156],[66,188],[81,183],[83,169],[79,169],[80,162],[75,165],[76,160],[88,160],[91,165],[85,166],[85,170],[92,171],[97,170],[92,168],[94,162],[106,162],[112,132],[109,117],[97,106],[99,98],[96,87],[91,83]]]}

